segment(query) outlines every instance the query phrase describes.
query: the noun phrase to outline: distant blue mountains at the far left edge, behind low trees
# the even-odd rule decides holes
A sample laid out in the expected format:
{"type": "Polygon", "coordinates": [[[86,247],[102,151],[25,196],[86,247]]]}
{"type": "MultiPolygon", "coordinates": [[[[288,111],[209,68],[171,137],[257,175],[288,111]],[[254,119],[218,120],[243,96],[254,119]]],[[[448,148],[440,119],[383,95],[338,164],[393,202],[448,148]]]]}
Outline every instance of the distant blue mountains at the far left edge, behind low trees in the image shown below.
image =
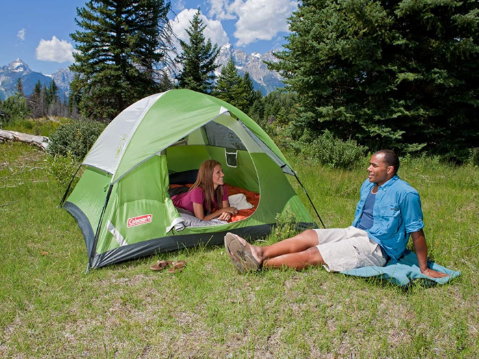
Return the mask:
{"type": "Polygon", "coordinates": [[[0,67],[0,98],[5,100],[15,93],[15,85],[18,79],[22,80],[23,92],[26,96],[34,92],[35,85],[40,81],[41,85],[50,85],[55,80],[59,88],[60,100],[68,97],[70,82],[73,80],[73,72],[60,68],[53,75],[43,75],[41,72],[32,71],[21,59],[16,59],[7,66],[0,67]]]}

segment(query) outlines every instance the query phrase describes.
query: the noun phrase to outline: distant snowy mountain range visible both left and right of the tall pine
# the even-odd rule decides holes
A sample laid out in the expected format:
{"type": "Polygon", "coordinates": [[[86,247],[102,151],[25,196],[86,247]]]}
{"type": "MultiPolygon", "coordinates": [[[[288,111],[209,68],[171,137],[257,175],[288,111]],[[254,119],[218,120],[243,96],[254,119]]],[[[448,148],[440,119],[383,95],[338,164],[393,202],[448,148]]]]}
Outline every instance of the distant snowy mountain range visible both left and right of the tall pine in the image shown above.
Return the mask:
{"type": "MultiPolygon", "coordinates": [[[[217,77],[220,75],[222,66],[226,65],[231,57],[235,61],[239,75],[244,75],[244,72],[248,71],[253,79],[255,89],[261,90],[263,94],[269,94],[276,88],[284,86],[279,73],[268,70],[266,64],[263,63],[263,61],[278,61],[270,51],[263,53],[263,55],[260,53],[248,55],[242,50],[233,49],[231,44],[225,44],[220,49],[220,55],[218,55],[216,60],[216,63],[220,64],[220,68],[216,70],[217,77]]],[[[22,79],[23,92],[26,96],[34,91],[35,84],[38,81],[48,87],[51,81],[55,80],[56,85],[60,89],[60,99],[63,101],[64,98],[68,98],[73,72],[60,68],[53,75],[44,75],[41,72],[32,71],[25,62],[21,59],[16,59],[7,66],[0,67],[0,98],[2,101],[15,93],[15,85],[18,78],[22,79]]]]}

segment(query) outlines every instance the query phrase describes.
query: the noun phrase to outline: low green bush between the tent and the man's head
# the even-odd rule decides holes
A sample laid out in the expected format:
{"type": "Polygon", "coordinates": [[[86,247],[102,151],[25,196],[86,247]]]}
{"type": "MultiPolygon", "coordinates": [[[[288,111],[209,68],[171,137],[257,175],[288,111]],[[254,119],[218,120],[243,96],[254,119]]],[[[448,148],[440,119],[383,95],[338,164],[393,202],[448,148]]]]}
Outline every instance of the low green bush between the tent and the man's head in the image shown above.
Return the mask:
{"type": "Polygon", "coordinates": [[[354,168],[367,152],[367,148],[359,146],[356,141],[342,141],[328,131],[316,137],[307,132],[294,147],[305,157],[318,159],[331,168],[354,168]]]}

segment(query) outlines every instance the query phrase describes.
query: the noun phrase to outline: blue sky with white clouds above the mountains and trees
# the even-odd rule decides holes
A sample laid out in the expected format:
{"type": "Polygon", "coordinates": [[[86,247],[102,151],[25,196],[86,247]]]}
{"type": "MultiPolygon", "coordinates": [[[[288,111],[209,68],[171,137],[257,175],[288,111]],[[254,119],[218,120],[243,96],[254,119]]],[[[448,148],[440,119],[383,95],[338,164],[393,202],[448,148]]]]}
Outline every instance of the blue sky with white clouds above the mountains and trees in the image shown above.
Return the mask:
{"type": "MultiPolygon", "coordinates": [[[[0,66],[21,58],[31,70],[51,74],[72,63],[77,7],[85,0],[0,0],[0,66]]],[[[205,35],[219,45],[229,42],[246,53],[279,49],[287,36],[292,0],[172,0],[170,19],[179,38],[200,6],[205,35]],[[175,16],[176,15],[176,16],[175,16]]]]}

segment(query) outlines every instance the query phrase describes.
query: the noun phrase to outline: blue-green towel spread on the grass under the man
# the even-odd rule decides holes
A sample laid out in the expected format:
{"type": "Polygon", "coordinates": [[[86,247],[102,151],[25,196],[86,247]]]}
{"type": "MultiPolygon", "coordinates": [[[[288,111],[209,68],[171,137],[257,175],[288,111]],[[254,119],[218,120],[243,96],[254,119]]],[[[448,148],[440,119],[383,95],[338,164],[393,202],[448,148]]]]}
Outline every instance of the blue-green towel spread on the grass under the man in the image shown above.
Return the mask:
{"type": "Polygon", "coordinates": [[[435,284],[445,284],[449,282],[452,278],[461,276],[460,271],[452,271],[451,269],[441,267],[436,263],[428,261],[428,267],[434,269],[435,271],[441,271],[442,273],[448,274],[449,277],[444,278],[430,278],[424,276],[419,270],[419,263],[417,262],[417,256],[415,253],[410,250],[405,250],[404,254],[399,258],[399,261],[390,260],[386,263],[384,267],[376,267],[372,265],[371,267],[362,267],[357,269],[351,269],[349,271],[341,271],[342,274],[348,274],[348,276],[359,276],[359,277],[380,277],[386,280],[389,280],[393,284],[398,286],[406,286],[411,282],[411,280],[416,280],[419,278],[429,280],[430,283],[435,284]]]}

